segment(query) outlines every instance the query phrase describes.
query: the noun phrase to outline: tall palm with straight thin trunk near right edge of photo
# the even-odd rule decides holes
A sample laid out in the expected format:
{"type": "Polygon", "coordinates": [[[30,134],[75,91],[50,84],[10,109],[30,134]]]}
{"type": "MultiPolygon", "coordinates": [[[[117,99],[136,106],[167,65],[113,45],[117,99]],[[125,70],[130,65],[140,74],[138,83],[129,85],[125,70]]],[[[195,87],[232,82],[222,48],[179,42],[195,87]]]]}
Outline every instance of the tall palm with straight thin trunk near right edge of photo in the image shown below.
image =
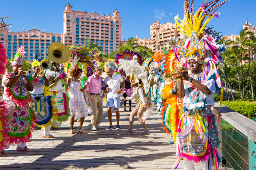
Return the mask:
{"type": "Polygon", "coordinates": [[[245,29],[241,29],[239,31],[239,35],[236,37],[236,43],[240,48],[240,67],[241,67],[241,86],[242,86],[242,93],[241,93],[241,99],[243,99],[243,95],[245,93],[245,82],[243,77],[243,48],[246,47],[245,42],[247,39],[254,39],[254,33],[252,31],[247,31],[247,27],[245,29]]]}

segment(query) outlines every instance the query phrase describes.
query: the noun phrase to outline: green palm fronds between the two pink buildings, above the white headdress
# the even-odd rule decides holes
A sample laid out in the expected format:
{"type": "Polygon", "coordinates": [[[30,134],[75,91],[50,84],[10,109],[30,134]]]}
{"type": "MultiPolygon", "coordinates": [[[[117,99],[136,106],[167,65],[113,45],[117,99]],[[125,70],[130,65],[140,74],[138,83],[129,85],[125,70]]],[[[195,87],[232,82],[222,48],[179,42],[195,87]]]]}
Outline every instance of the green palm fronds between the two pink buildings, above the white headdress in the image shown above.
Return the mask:
{"type": "Polygon", "coordinates": [[[128,38],[128,41],[125,44],[118,43],[119,47],[117,48],[117,51],[112,51],[110,56],[115,56],[116,54],[122,54],[125,50],[126,51],[135,51],[137,53],[141,53],[142,51],[147,50],[144,46],[140,46],[137,44],[137,38],[128,38]]]}

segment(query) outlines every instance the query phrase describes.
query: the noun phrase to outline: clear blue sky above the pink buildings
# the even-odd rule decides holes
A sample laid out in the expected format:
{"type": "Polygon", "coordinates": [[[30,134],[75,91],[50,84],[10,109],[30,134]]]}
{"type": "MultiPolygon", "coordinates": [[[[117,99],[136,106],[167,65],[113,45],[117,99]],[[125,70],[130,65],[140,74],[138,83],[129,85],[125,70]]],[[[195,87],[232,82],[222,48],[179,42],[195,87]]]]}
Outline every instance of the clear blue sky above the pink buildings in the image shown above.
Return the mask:
{"type": "MultiPolygon", "coordinates": [[[[223,1],[223,0],[221,0],[223,1]]],[[[174,22],[174,16],[179,14],[183,18],[184,0],[70,0],[70,5],[75,11],[87,11],[108,14],[115,10],[120,12],[122,18],[122,40],[128,37],[150,38],[150,27],[158,16],[161,24],[165,24],[168,19],[174,22]]],[[[194,0],[194,9],[197,9],[204,0],[194,0]]],[[[39,29],[48,32],[63,32],[63,9],[68,0],[2,0],[1,17],[18,16],[20,18],[4,19],[6,24],[14,24],[9,31],[22,32],[29,29],[39,29]]],[[[213,25],[222,35],[236,35],[241,29],[241,25],[248,21],[256,22],[255,0],[230,0],[226,2],[217,12],[219,18],[213,18],[209,25],[213,25]]]]}

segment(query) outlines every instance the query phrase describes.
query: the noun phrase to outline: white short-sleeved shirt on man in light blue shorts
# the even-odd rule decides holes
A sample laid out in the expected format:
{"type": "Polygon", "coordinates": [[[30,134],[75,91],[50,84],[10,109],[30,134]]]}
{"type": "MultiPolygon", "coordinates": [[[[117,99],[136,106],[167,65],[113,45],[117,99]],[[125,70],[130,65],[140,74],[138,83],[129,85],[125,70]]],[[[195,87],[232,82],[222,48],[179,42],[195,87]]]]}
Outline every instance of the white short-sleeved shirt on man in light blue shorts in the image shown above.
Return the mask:
{"type": "Polygon", "coordinates": [[[121,75],[113,74],[112,77],[106,77],[104,81],[109,87],[109,91],[107,94],[108,98],[116,98],[121,96],[122,93],[117,95],[117,91],[120,90],[120,84],[124,81],[121,75]]]}

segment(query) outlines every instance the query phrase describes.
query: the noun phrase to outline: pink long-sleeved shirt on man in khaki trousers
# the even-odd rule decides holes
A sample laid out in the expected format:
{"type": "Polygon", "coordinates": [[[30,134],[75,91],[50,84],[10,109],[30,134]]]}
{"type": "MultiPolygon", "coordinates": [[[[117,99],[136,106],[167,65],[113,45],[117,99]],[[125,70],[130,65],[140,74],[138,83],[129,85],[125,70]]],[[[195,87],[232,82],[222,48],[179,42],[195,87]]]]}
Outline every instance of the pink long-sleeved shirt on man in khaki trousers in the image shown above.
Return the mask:
{"type": "Polygon", "coordinates": [[[96,79],[95,73],[91,77],[89,77],[86,80],[86,83],[89,82],[89,86],[85,89],[85,91],[89,91],[89,93],[95,93],[99,94],[100,93],[100,88],[103,87],[103,83],[101,81],[101,77],[98,77],[98,80],[96,79]]]}

